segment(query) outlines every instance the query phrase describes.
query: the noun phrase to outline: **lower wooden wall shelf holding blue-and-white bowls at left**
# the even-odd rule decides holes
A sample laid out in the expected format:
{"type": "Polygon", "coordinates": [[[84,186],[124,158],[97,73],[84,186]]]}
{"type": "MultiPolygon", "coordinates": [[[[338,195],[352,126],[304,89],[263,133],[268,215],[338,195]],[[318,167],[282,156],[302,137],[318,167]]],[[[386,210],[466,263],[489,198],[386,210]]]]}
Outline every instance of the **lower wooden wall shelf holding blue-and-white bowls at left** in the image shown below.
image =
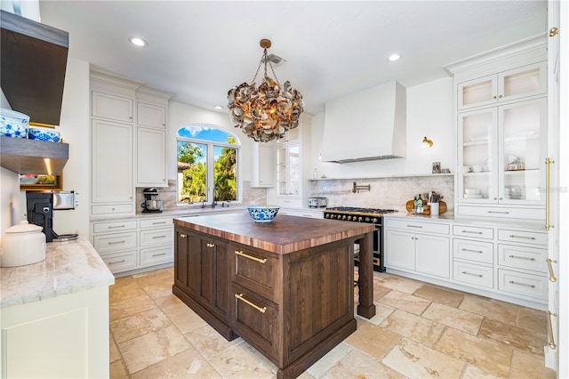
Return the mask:
{"type": "Polygon", "coordinates": [[[0,165],[14,173],[48,173],[59,175],[68,162],[69,144],[0,137],[0,165]]]}

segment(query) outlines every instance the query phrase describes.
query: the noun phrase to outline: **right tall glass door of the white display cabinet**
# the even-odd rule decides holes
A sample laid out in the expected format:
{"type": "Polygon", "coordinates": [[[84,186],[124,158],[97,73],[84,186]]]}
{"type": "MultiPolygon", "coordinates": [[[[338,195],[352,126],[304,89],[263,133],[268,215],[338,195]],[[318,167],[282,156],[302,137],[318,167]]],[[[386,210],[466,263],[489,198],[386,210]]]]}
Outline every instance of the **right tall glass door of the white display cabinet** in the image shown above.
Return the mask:
{"type": "Polygon", "coordinates": [[[544,204],[546,112],[546,99],[500,107],[501,203],[544,204]]]}

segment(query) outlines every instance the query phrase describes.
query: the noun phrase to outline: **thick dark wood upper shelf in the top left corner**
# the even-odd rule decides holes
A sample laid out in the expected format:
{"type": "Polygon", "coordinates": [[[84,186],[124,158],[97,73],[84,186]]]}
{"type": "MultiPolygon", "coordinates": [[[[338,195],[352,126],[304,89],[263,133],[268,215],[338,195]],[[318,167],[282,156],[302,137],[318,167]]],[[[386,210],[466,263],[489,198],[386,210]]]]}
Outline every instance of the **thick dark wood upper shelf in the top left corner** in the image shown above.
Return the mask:
{"type": "Polygon", "coordinates": [[[12,109],[30,123],[60,125],[69,34],[2,11],[0,86],[12,109]]]}

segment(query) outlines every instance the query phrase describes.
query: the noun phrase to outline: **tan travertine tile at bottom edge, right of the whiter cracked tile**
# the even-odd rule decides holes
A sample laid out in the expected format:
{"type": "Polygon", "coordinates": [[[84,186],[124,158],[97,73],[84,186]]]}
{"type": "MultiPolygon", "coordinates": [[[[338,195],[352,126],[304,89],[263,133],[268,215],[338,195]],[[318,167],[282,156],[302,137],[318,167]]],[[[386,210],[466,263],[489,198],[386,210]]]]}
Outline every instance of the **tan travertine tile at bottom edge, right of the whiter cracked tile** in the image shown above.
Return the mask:
{"type": "Polygon", "coordinates": [[[446,355],[472,363],[495,375],[509,376],[512,349],[505,344],[447,327],[435,347],[446,355]]]}

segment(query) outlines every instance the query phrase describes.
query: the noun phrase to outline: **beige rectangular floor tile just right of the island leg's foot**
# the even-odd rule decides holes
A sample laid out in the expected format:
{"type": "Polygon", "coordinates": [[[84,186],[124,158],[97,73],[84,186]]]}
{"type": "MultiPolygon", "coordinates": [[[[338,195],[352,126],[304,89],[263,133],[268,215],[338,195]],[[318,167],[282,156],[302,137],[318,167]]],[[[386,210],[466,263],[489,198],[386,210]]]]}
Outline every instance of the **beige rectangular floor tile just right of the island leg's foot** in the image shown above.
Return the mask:
{"type": "Polygon", "coordinates": [[[405,310],[394,311],[388,319],[381,323],[381,327],[427,346],[436,343],[445,330],[445,325],[423,319],[405,310]]]}

